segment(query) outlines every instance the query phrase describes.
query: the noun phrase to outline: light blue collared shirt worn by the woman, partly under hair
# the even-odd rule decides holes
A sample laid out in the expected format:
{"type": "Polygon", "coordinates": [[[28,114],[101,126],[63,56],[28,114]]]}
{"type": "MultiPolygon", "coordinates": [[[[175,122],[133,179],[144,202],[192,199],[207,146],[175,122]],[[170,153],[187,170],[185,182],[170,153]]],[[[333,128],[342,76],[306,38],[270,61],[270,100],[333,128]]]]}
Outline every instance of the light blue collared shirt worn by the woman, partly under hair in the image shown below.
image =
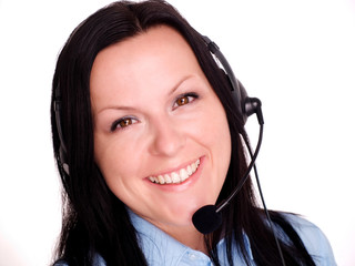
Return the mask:
{"type": "MultiPolygon", "coordinates": [[[[204,253],[194,250],[170,235],[165,234],[151,223],[129,211],[133,226],[138,232],[140,246],[145,255],[150,266],[212,266],[212,262],[204,253]]],[[[332,247],[322,233],[322,231],[311,222],[301,218],[296,215],[285,214],[287,221],[291,222],[294,229],[298,233],[307,252],[313,257],[317,266],[334,266],[336,265],[332,247]]],[[[248,256],[253,260],[253,254],[250,242],[244,235],[245,246],[248,250],[248,256]]],[[[222,239],[219,244],[219,258],[221,265],[227,265],[225,254],[225,242],[222,239]]],[[[235,250],[237,248],[235,247],[235,250]]],[[[239,252],[233,253],[234,265],[245,265],[239,252]]],[[[67,266],[59,263],[55,266],[67,266]]],[[[104,260],[99,255],[95,257],[94,266],[105,266],[104,260]]]]}

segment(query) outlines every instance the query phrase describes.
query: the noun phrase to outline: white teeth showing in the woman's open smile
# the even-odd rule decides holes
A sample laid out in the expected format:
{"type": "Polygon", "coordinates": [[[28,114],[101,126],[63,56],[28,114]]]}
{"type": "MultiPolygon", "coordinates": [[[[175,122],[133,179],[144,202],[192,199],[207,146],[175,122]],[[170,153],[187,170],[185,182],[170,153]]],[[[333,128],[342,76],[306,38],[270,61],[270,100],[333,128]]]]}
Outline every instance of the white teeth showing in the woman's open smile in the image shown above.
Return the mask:
{"type": "Polygon", "coordinates": [[[152,183],[156,183],[156,184],[180,184],[184,181],[186,181],[193,173],[196,172],[196,170],[199,168],[200,165],[200,158],[187,165],[185,168],[181,168],[178,171],[174,171],[170,174],[163,174],[163,175],[158,175],[158,176],[150,176],[149,180],[152,183]]]}

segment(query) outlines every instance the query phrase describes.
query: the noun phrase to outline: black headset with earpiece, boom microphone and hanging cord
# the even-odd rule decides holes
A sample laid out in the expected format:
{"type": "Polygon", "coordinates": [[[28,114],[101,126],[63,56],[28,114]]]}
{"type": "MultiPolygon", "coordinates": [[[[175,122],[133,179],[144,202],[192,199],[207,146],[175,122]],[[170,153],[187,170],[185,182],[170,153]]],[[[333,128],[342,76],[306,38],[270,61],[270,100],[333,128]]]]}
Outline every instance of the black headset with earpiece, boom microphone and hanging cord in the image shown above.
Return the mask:
{"type": "MultiPolygon", "coordinates": [[[[213,42],[211,41],[207,37],[202,37],[206,47],[209,48],[209,51],[211,52],[212,55],[214,55],[214,59],[216,61],[216,63],[219,64],[219,62],[222,64],[223,66],[223,71],[227,76],[227,80],[231,83],[231,95],[233,98],[233,101],[236,105],[237,112],[239,114],[242,115],[243,119],[243,125],[245,125],[246,120],[250,115],[252,114],[256,114],[257,116],[257,121],[260,124],[260,135],[258,135],[258,141],[257,141],[257,145],[255,149],[255,152],[252,151],[247,140],[245,140],[244,135],[242,134],[242,137],[244,140],[244,143],[247,146],[250,156],[251,156],[251,162],[250,165],[244,174],[244,176],[241,178],[240,183],[237,184],[237,186],[234,188],[234,191],[232,192],[232,194],[224,200],[222,203],[220,203],[217,206],[216,205],[206,205],[201,207],[200,209],[197,209],[193,217],[192,217],[192,222],[194,224],[194,226],[196,227],[196,229],[199,232],[201,232],[202,234],[209,234],[214,232],[221,224],[222,224],[222,216],[221,216],[221,211],[234,198],[234,196],[241,191],[241,188],[243,187],[243,185],[245,184],[246,180],[250,177],[250,172],[252,171],[252,168],[254,168],[254,174],[255,174],[255,178],[256,178],[256,183],[257,183],[257,187],[258,187],[258,192],[260,192],[260,196],[263,203],[263,207],[267,217],[267,222],[272,228],[275,242],[276,242],[276,246],[280,253],[280,257],[282,260],[282,265],[285,265],[284,262],[284,257],[283,257],[283,253],[281,250],[280,247],[280,243],[278,239],[276,237],[276,233],[273,226],[273,223],[271,221],[268,211],[266,208],[266,204],[263,197],[263,193],[261,190],[261,185],[260,185],[260,181],[258,181],[258,175],[257,175],[257,171],[256,171],[256,165],[255,165],[255,161],[261,147],[261,142],[262,142],[262,135],[263,135],[263,125],[264,125],[264,119],[263,119],[263,113],[262,113],[262,103],[257,98],[248,98],[247,93],[244,89],[244,86],[242,85],[242,83],[235,78],[232,68],[230,66],[227,60],[225,59],[225,57],[223,55],[223,53],[221,52],[220,48],[213,42]]],[[[58,136],[59,136],[59,141],[60,141],[60,146],[59,146],[59,153],[58,153],[58,162],[59,162],[59,167],[67,174],[70,175],[70,171],[69,171],[69,164],[68,164],[68,153],[67,153],[67,146],[64,143],[64,137],[63,137],[63,131],[62,131],[62,124],[61,124],[61,93],[60,93],[60,83],[58,84],[58,86],[54,90],[54,113],[55,113],[55,124],[57,124],[57,132],[58,132],[58,136]]]]}

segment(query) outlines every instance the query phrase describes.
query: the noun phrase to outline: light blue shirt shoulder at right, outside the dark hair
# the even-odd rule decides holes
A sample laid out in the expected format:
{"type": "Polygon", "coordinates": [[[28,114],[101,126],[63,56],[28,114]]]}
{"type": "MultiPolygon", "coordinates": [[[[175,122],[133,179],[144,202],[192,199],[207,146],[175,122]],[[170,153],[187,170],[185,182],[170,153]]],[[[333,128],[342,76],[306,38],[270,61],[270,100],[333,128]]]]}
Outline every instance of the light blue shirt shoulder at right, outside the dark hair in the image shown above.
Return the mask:
{"type": "Polygon", "coordinates": [[[297,232],[316,265],[336,265],[332,246],[320,227],[295,214],[283,214],[283,216],[297,232]]]}

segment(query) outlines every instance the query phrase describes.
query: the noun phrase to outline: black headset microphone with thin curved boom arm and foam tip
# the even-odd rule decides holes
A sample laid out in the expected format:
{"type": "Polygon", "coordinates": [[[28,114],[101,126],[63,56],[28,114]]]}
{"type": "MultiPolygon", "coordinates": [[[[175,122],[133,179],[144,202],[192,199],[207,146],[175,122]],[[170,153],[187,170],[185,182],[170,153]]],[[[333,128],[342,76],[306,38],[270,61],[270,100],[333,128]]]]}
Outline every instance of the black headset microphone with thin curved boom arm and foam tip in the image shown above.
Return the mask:
{"type": "MultiPolygon", "coordinates": [[[[255,149],[254,154],[252,155],[252,160],[247,166],[247,170],[243,176],[243,178],[240,181],[237,186],[234,188],[234,191],[231,193],[231,195],[223,202],[221,202],[217,206],[216,205],[205,205],[201,208],[199,208],[192,216],[192,223],[195,226],[195,228],[201,232],[202,234],[210,234],[214,231],[216,231],[221,224],[222,224],[222,215],[221,211],[233,200],[233,197],[242,190],[243,185],[245,184],[246,180],[250,176],[250,173],[255,165],[255,161],[262,144],[263,139],[263,131],[264,131],[264,120],[261,111],[261,101],[255,98],[248,98],[247,103],[253,105],[254,112],[257,114],[257,120],[260,124],[260,133],[258,133],[258,141],[255,149]]],[[[247,104],[246,103],[246,104],[247,104]]],[[[243,140],[245,143],[245,136],[242,134],[243,140]]]]}

